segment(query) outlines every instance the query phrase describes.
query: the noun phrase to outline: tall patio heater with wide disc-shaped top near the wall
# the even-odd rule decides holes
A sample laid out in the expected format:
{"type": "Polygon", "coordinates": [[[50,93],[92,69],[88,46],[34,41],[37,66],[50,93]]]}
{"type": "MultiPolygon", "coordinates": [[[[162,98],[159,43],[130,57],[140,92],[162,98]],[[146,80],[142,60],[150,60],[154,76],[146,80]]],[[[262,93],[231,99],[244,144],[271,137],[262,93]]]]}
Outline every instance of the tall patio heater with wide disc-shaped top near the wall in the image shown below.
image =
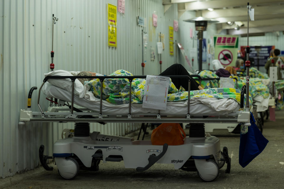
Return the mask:
{"type": "Polygon", "coordinates": [[[188,20],[183,20],[185,22],[195,22],[195,30],[198,31],[197,37],[199,40],[199,71],[202,71],[202,39],[203,31],[206,31],[207,23],[218,23],[219,21],[204,17],[196,17],[188,20]]]}

